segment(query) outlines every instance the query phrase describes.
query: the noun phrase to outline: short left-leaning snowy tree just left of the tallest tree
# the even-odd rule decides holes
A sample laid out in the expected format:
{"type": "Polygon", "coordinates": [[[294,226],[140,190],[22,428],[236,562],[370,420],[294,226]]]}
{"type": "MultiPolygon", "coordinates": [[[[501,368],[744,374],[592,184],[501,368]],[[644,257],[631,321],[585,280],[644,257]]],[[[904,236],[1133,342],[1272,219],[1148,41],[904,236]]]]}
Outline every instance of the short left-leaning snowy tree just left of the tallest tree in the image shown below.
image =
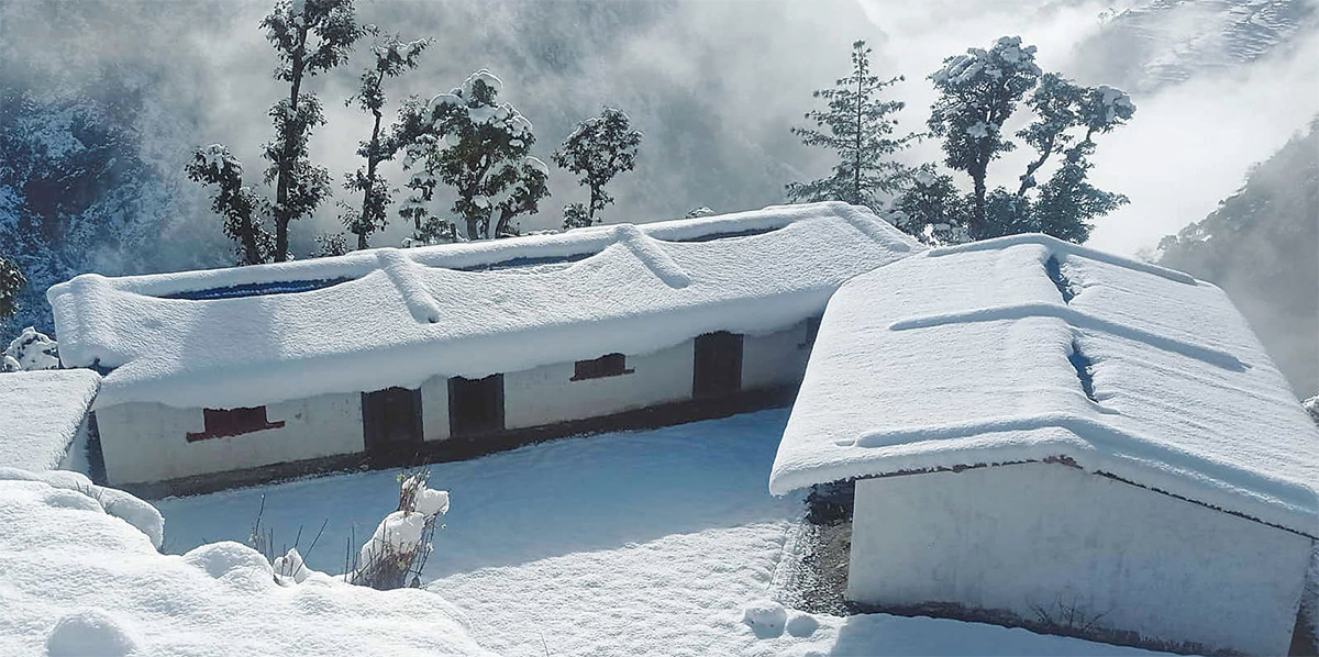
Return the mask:
{"type": "Polygon", "coordinates": [[[252,187],[243,185],[243,162],[224,145],[211,144],[193,152],[186,170],[189,179],[215,187],[211,211],[224,218],[224,235],[237,243],[239,261],[244,265],[266,263],[274,251],[274,240],[261,219],[266,203],[252,187]]]}

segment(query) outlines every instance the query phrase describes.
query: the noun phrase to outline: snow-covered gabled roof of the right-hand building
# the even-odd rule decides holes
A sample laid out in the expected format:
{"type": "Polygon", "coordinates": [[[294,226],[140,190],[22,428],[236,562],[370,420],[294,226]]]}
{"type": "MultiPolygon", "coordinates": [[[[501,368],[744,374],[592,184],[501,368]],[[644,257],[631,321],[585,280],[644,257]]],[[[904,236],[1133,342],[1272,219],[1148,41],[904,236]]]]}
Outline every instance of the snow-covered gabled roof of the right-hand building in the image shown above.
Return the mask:
{"type": "Polygon", "coordinates": [[[1319,534],[1319,431],[1227,296],[1042,235],[839,289],[770,491],[1051,458],[1319,534]]]}

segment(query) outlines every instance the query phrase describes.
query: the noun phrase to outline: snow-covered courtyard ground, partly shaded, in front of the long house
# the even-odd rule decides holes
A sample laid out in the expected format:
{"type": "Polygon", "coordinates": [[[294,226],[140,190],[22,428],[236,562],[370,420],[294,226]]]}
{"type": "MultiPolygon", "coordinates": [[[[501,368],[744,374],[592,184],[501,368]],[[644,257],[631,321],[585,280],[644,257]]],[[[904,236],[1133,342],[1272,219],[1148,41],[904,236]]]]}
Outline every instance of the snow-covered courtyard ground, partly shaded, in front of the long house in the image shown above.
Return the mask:
{"type": "MultiPolygon", "coordinates": [[[[1024,629],[888,615],[744,623],[802,515],[766,478],[787,410],[575,438],[431,467],[452,507],[425,578],[508,656],[545,654],[1148,654],[1024,629]]],[[[170,499],[166,550],[243,541],[265,509],[274,542],[342,571],[346,541],[397,505],[379,471],[170,499]]]]}

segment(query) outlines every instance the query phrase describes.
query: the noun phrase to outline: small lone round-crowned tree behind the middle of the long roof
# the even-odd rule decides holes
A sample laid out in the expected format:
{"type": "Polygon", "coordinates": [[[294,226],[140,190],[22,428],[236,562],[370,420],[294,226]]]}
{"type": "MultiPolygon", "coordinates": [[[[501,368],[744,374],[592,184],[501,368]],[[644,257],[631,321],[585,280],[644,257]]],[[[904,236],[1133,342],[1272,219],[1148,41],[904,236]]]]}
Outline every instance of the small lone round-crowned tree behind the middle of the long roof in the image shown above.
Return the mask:
{"type": "MultiPolygon", "coordinates": [[[[563,228],[600,223],[596,215],[604,206],[613,203],[613,197],[604,191],[604,186],[615,175],[636,168],[640,145],[641,132],[632,129],[632,120],[623,110],[605,107],[600,116],[578,124],[553,157],[554,164],[575,173],[578,183],[584,185],[591,195],[586,204],[586,220],[570,218],[565,208],[563,228]]],[[[574,212],[574,216],[579,214],[574,212]]]]}

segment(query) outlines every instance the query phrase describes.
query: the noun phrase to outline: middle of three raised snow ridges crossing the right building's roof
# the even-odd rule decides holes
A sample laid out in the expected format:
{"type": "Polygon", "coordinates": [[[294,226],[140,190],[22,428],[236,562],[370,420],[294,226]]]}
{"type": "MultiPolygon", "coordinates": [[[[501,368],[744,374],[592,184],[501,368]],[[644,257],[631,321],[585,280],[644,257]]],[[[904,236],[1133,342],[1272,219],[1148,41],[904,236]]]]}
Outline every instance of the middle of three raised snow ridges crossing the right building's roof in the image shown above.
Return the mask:
{"type": "Polygon", "coordinates": [[[1236,355],[1215,347],[1207,347],[1203,344],[1195,344],[1191,342],[1179,340],[1177,338],[1169,338],[1166,335],[1150,332],[1146,331],[1145,328],[1137,328],[1134,326],[1120,325],[1111,319],[1104,319],[1099,315],[1078,310],[1074,306],[1042,302],[1042,301],[1012,303],[1006,306],[979,307],[956,313],[938,313],[933,315],[898,319],[897,322],[889,325],[889,330],[907,331],[913,328],[930,328],[935,326],[947,326],[955,323],[996,322],[1000,319],[1025,319],[1028,317],[1054,317],[1058,319],[1063,319],[1068,325],[1075,326],[1078,328],[1091,328],[1111,335],[1116,335],[1120,338],[1128,338],[1132,340],[1142,342],[1145,344],[1149,344],[1150,347],[1159,348],[1163,351],[1173,351],[1175,354],[1194,358],[1203,363],[1217,365],[1224,369],[1233,369],[1240,372],[1246,369],[1248,367],[1239,358],[1236,358],[1236,355]]]}

